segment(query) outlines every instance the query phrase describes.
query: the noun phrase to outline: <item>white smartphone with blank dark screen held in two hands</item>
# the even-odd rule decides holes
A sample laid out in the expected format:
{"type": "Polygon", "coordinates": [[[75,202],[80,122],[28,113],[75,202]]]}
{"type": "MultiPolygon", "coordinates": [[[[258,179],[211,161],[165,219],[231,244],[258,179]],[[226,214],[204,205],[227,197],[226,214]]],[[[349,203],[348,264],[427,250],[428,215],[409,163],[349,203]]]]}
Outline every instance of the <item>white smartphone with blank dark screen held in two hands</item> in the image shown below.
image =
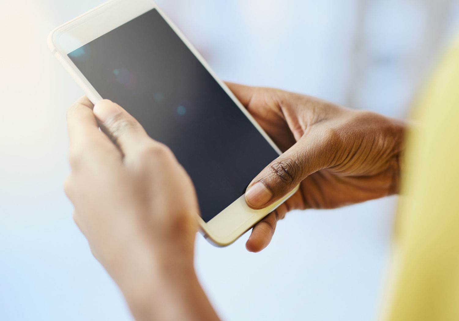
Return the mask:
{"type": "Polygon", "coordinates": [[[93,103],[115,101],[172,149],[211,243],[234,242],[296,191],[262,210],[246,205],[247,185],[280,149],[153,1],[108,1],[48,42],[93,103]]]}

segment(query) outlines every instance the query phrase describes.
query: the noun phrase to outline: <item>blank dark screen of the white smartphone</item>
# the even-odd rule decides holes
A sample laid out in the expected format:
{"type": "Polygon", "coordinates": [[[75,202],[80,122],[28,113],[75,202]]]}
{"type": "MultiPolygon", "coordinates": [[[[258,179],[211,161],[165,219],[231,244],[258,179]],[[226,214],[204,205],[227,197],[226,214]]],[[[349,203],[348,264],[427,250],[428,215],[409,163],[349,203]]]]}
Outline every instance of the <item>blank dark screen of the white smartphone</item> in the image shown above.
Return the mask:
{"type": "Polygon", "coordinates": [[[172,149],[206,222],[277,157],[156,9],[68,56],[103,98],[172,149]]]}

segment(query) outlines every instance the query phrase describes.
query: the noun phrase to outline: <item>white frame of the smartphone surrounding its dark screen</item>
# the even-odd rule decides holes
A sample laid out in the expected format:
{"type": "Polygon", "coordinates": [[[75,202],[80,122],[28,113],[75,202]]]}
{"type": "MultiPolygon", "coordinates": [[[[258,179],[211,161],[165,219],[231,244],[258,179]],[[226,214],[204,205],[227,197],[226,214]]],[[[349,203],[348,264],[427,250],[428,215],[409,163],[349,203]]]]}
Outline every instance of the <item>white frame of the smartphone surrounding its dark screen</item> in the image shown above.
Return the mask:
{"type": "MultiPolygon", "coordinates": [[[[231,97],[235,104],[241,109],[246,117],[252,122],[257,130],[269,142],[273,149],[280,155],[280,149],[274,144],[269,136],[264,132],[260,125],[253,119],[250,113],[244,108],[235,95],[229,90],[226,84],[221,81],[208,66],[195,47],[190,44],[188,39],[180,32],[174,23],[162,12],[162,10],[151,0],[110,0],[94,9],[64,23],[54,29],[48,37],[48,45],[56,58],[62,63],[78,85],[84,90],[88,98],[95,104],[102,100],[101,95],[94,89],[90,82],[79,71],[77,66],[70,60],[68,54],[89,43],[90,41],[102,36],[105,33],[121,26],[142,15],[143,13],[156,9],[161,16],[168,22],[179,38],[186,44],[196,58],[202,63],[207,71],[215,78],[225,92],[231,97]]],[[[244,232],[250,229],[255,223],[263,219],[264,216],[273,211],[277,206],[282,204],[293,193],[295,188],[283,199],[261,210],[253,210],[246,205],[244,195],[236,199],[223,211],[218,213],[207,223],[199,217],[201,232],[205,238],[218,246],[225,246],[234,242],[244,232]]]]}

